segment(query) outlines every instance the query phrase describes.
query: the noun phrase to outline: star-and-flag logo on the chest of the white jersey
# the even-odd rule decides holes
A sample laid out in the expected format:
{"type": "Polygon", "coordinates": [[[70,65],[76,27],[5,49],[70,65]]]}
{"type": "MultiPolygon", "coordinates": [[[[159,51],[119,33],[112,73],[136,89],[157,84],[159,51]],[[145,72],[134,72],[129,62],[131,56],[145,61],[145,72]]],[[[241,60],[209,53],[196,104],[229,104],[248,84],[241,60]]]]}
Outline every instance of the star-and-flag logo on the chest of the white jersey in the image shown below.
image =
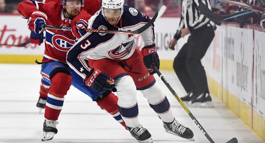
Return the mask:
{"type": "Polygon", "coordinates": [[[132,50],[134,40],[127,42],[127,43],[121,43],[120,46],[117,48],[111,50],[108,52],[108,55],[112,57],[113,59],[121,59],[128,55],[130,51],[132,50]]]}

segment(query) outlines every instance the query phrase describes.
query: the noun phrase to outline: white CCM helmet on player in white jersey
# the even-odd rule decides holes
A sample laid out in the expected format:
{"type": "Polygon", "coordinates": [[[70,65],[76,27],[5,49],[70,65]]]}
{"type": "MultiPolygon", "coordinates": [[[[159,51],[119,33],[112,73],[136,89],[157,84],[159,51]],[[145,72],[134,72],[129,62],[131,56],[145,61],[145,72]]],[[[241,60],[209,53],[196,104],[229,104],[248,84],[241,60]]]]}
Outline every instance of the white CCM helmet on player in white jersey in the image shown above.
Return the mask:
{"type": "MultiPolygon", "coordinates": [[[[120,9],[119,15],[113,15],[115,17],[120,17],[123,14],[123,5],[124,5],[124,0],[102,0],[102,6],[101,6],[101,14],[105,17],[106,19],[106,13],[104,13],[104,8],[107,9],[120,9]]],[[[106,19],[107,20],[107,19],[106,19]]],[[[119,18],[120,20],[120,18],[119,18]]]]}

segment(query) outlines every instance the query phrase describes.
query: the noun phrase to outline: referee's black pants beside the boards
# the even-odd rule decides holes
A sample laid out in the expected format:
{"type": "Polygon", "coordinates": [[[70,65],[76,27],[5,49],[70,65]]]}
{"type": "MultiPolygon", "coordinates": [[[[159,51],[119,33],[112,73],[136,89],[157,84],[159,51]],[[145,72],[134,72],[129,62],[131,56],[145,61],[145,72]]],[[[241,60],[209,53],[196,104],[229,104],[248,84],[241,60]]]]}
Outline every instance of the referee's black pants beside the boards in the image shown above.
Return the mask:
{"type": "Polygon", "coordinates": [[[197,95],[202,92],[209,92],[207,78],[201,59],[205,55],[214,37],[212,27],[192,33],[188,42],[183,45],[174,59],[174,70],[188,93],[195,90],[197,95]]]}

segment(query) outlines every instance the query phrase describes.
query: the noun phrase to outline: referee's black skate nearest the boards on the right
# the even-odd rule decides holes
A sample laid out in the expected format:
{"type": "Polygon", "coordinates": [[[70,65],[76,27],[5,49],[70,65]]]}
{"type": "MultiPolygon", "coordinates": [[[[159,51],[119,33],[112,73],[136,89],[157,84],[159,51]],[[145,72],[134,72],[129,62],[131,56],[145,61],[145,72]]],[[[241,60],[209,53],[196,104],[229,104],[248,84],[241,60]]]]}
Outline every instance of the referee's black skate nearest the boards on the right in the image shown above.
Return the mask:
{"type": "Polygon", "coordinates": [[[209,93],[201,93],[198,97],[194,98],[192,101],[193,107],[198,108],[213,108],[212,98],[209,93]]]}

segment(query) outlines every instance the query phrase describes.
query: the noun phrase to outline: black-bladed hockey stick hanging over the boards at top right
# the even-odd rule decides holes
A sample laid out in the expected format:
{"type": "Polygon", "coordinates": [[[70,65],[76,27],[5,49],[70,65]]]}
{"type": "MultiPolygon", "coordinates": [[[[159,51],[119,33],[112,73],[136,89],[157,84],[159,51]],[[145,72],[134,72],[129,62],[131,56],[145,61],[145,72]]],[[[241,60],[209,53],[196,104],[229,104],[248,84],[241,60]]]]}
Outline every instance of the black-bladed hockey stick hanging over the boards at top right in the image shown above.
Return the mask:
{"type": "MultiPolygon", "coordinates": [[[[262,5],[261,7],[265,7],[265,5],[262,5]]],[[[229,14],[229,15],[219,15],[219,14],[216,14],[213,11],[211,11],[203,2],[200,2],[198,9],[203,15],[205,15],[207,18],[209,18],[212,21],[227,20],[227,19],[231,19],[234,17],[238,17],[240,15],[245,15],[247,13],[254,12],[251,9],[247,9],[247,10],[239,11],[237,13],[233,13],[233,14],[229,14]]]]}

